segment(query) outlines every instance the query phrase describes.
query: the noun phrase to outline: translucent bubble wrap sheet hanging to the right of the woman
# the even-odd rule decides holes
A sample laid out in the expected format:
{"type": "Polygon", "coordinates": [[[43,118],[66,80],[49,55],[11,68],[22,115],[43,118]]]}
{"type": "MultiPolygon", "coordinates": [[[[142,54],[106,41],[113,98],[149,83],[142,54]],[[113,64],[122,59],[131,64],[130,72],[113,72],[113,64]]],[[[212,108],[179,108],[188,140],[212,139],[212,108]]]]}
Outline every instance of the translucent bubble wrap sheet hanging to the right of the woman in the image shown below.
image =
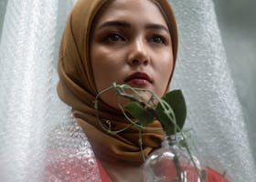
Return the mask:
{"type": "Polygon", "coordinates": [[[210,0],[171,0],[179,29],[172,88],[187,100],[187,128],[204,165],[234,182],[255,181],[255,163],[210,0]]]}

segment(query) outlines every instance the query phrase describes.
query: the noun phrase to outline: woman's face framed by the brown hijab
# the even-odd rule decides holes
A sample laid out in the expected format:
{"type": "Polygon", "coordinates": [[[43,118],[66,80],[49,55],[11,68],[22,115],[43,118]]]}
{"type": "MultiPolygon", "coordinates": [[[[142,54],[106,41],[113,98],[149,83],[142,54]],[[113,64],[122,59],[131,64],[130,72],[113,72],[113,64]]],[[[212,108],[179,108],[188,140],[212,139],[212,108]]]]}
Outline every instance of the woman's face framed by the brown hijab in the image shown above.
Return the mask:
{"type": "MultiPolygon", "coordinates": [[[[174,65],[172,41],[153,2],[114,0],[105,5],[92,29],[90,49],[98,92],[116,82],[152,90],[157,96],[165,94],[174,65]]],[[[113,92],[101,99],[117,108],[113,92]]]]}

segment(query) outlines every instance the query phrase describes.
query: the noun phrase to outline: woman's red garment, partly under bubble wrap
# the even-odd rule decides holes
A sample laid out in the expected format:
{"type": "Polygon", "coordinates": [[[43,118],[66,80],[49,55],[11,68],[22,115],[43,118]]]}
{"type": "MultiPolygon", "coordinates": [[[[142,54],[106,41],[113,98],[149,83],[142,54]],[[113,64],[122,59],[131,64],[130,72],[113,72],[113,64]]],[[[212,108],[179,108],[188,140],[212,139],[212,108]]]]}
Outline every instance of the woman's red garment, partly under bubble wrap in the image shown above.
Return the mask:
{"type": "MultiPolygon", "coordinates": [[[[45,181],[55,182],[64,180],[66,182],[79,182],[88,181],[88,177],[93,182],[112,181],[98,159],[96,159],[97,165],[91,165],[89,161],[86,158],[69,158],[69,156],[63,156],[54,161],[50,160],[45,168],[45,181]],[[94,177],[94,179],[91,179],[91,177],[94,177]]],[[[207,168],[207,174],[207,182],[229,182],[228,179],[222,177],[210,167],[207,168]]]]}

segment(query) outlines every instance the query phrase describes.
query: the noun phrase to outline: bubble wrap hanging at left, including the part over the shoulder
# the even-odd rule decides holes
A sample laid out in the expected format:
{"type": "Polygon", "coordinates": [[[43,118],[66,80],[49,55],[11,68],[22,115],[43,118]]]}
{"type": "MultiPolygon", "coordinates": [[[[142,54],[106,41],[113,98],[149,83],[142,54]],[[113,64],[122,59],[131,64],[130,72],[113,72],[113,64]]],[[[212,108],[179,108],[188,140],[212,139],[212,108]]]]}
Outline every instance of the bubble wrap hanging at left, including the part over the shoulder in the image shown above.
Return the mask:
{"type": "Polygon", "coordinates": [[[70,108],[56,93],[60,36],[72,5],[73,1],[8,1],[0,45],[1,181],[85,181],[78,179],[78,172],[67,175],[78,165],[80,175],[86,173],[85,165],[91,170],[86,181],[99,181],[87,138],[77,126],[69,126],[74,125],[70,108]]]}

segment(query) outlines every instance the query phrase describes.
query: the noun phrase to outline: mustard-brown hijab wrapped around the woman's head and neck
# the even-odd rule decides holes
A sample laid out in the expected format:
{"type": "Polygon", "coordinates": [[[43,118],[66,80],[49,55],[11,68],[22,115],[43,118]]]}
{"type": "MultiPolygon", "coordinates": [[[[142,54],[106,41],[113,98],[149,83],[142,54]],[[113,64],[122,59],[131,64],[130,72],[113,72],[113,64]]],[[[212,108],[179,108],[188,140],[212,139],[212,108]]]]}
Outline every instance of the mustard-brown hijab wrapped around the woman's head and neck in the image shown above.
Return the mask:
{"type": "MultiPolygon", "coordinates": [[[[89,53],[91,25],[101,6],[108,0],[79,0],[72,9],[59,49],[59,97],[72,107],[73,115],[88,136],[95,155],[103,160],[141,164],[142,152],[139,147],[138,130],[132,126],[119,135],[104,132],[95,117],[93,101],[97,95],[89,53]]],[[[173,12],[166,0],[154,1],[169,25],[172,36],[173,55],[176,60],[177,30],[173,12]]],[[[171,79],[171,77],[170,77],[171,79]]],[[[111,124],[112,130],[119,130],[129,123],[120,111],[99,103],[99,115],[104,125],[111,124]]],[[[149,125],[160,128],[158,121],[149,125]]],[[[163,132],[144,130],[142,133],[143,153],[160,147],[163,132]]]]}

